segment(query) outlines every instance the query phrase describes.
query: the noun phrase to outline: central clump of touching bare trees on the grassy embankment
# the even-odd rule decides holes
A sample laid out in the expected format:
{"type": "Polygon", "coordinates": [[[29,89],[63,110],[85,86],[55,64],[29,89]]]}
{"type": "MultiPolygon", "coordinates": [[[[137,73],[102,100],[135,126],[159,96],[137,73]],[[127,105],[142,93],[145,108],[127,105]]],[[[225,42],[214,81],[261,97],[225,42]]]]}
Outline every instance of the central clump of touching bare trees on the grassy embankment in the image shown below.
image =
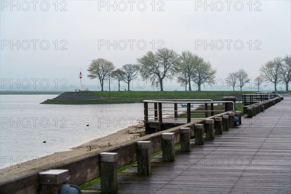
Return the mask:
{"type": "MultiPolygon", "coordinates": [[[[209,62],[204,61],[190,51],[183,51],[179,55],[173,49],[159,49],[156,52],[148,51],[146,55],[137,59],[137,64],[123,65],[121,69],[114,70],[112,62],[106,59],[95,59],[89,65],[87,71],[90,79],[97,78],[100,81],[101,91],[103,91],[104,81],[110,78],[118,81],[118,91],[120,90],[120,81],[129,84],[135,80],[138,74],[149,81],[152,86],[159,86],[163,91],[163,82],[173,79],[177,76],[178,83],[181,86],[189,86],[191,91],[191,82],[198,85],[200,91],[201,84],[213,81],[216,70],[212,69],[209,62]]],[[[109,84],[110,87],[110,84],[109,84]]],[[[110,91],[110,88],[109,88],[110,91]]]]}

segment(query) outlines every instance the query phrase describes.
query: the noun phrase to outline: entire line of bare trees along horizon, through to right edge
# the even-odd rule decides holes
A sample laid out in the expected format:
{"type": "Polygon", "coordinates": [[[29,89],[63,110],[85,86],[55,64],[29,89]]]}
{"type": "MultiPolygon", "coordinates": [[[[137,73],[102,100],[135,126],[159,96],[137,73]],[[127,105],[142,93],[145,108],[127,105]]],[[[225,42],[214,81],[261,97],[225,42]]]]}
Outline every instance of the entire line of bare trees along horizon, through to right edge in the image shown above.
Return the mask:
{"type": "MultiPolygon", "coordinates": [[[[190,51],[182,51],[178,54],[173,49],[159,49],[155,52],[148,51],[146,55],[137,58],[137,64],[126,64],[122,68],[114,70],[112,62],[98,58],[92,60],[87,71],[90,79],[97,78],[100,81],[101,91],[103,91],[104,81],[115,79],[118,81],[118,91],[120,90],[120,81],[124,81],[128,85],[135,80],[140,74],[145,81],[149,81],[152,86],[159,86],[163,91],[163,82],[173,80],[177,77],[177,82],[181,86],[185,86],[185,90],[192,91],[191,83],[198,86],[201,90],[203,83],[212,83],[215,78],[216,69],[213,69],[210,62],[205,61],[202,57],[193,54],[190,51]]],[[[284,82],[286,90],[291,81],[291,56],[285,58],[277,57],[272,61],[262,65],[259,69],[260,75],[254,80],[256,86],[262,83],[276,84],[284,82]]],[[[242,87],[250,82],[248,74],[244,69],[231,72],[226,77],[228,85],[242,87]]],[[[109,84],[110,91],[110,84],[109,84]]]]}

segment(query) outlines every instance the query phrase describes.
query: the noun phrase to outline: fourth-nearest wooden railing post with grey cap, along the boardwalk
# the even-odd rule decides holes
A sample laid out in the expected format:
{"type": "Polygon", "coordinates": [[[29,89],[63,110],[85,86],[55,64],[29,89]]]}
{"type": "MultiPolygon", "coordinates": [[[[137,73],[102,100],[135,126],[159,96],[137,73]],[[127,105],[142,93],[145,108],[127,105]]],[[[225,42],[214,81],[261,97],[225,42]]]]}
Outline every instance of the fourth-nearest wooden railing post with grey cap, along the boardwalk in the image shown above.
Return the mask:
{"type": "Polygon", "coordinates": [[[162,133],[162,161],[175,161],[175,133],[162,133]]]}

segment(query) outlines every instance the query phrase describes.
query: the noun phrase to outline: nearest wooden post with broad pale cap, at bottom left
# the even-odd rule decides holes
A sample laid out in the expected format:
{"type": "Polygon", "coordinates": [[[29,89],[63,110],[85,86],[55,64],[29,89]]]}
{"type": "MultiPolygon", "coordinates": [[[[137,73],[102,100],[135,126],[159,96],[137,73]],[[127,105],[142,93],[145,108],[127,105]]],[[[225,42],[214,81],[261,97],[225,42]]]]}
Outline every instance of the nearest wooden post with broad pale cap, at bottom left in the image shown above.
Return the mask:
{"type": "Polygon", "coordinates": [[[40,194],[59,194],[64,183],[69,179],[69,171],[52,169],[38,173],[40,194]]]}

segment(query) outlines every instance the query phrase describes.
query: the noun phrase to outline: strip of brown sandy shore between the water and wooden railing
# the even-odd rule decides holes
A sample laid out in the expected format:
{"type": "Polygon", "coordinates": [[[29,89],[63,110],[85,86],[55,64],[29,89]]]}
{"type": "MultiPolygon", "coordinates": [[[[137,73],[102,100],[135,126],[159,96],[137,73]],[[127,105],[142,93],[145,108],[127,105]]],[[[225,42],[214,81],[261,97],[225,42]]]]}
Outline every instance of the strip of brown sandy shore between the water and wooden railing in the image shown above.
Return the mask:
{"type": "Polygon", "coordinates": [[[98,152],[101,148],[114,146],[119,143],[123,143],[140,136],[145,131],[144,124],[134,125],[126,129],[121,129],[115,133],[101,137],[81,146],[73,147],[72,150],[56,152],[49,156],[44,156],[32,161],[9,166],[4,169],[0,169],[0,177],[7,177],[26,170],[30,170],[38,167],[46,167],[50,165],[59,165],[64,162],[68,162],[82,156],[90,155],[98,152]]]}

